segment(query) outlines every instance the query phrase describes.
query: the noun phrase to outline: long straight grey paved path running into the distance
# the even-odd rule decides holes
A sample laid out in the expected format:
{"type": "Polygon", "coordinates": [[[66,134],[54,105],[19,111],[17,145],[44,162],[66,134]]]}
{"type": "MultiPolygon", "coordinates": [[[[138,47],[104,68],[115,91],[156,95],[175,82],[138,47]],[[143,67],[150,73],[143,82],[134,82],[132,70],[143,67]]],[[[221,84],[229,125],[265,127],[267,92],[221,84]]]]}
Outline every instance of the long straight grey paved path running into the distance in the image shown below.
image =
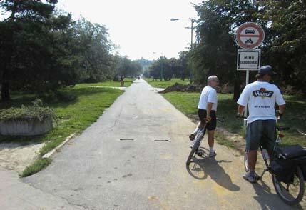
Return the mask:
{"type": "Polygon", "coordinates": [[[135,81],[50,166],[22,180],[83,209],[292,209],[270,179],[245,181],[243,158],[218,144],[215,159],[200,161],[204,173],[191,176],[185,160],[194,127],[146,81],[135,81]]]}

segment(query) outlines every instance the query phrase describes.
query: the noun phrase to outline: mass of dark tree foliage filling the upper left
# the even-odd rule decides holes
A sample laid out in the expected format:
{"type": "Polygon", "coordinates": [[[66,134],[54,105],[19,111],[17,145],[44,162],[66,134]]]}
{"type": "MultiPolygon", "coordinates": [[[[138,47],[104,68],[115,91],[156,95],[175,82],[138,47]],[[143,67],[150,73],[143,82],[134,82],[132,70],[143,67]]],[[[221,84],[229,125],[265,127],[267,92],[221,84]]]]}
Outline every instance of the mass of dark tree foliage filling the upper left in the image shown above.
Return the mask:
{"type": "Polygon", "coordinates": [[[113,75],[113,44],[105,26],[54,11],[57,1],[0,1],[1,99],[9,90],[56,91],[113,75]]]}

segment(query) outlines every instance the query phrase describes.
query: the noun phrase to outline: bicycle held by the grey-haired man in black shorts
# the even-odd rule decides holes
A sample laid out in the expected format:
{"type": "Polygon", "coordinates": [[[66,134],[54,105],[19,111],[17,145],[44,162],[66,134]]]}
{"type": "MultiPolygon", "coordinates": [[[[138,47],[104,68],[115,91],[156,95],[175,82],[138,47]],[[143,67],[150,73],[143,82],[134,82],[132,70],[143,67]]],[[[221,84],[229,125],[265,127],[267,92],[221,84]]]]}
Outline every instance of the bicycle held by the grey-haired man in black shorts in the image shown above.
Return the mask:
{"type": "MultiPolygon", "coordinates": [[[[223,122],[224,119],[222,118],[217,118],[217,121],[223,122]]],[[[206,125],[206,124],[205,124],[206,125]]],[[[193,140],[193,146],[191,148],[190,154],[188,156],[188,159],[186,161],[186,165],[188,166],[191,162],[191,160],[193,159],[193,157],[195,157],[196,155],[203,157],[205,156],[205,151],[203,149],[200,148],[200,144],[203,140],[203,137],[205,135],[206,132],[206,127],[203,126],[200,129],[198,129],[197,134],[195,134],[195,139],[193,140]]]]}

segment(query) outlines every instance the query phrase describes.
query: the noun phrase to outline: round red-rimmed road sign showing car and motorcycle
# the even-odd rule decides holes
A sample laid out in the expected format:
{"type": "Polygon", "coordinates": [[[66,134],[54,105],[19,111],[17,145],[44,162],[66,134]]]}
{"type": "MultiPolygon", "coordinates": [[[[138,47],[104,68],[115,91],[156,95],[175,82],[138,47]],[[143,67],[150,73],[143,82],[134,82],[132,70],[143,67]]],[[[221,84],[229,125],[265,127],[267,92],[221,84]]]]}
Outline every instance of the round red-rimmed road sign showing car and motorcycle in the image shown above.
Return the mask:
{"type": "Polygon", "coordinates": [[[265,31],[256,23],[241,24],[235,34],[236,43],[243,49],[255,49],[265,39],[265,31]]]}

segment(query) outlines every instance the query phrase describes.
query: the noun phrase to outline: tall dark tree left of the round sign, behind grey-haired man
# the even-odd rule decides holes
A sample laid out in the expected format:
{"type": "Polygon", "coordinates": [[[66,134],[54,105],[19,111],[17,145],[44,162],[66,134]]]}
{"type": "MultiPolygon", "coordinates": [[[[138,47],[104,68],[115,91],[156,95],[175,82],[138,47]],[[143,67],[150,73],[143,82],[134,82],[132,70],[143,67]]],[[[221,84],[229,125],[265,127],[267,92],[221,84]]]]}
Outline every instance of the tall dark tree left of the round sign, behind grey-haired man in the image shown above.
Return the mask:
{"type": "Polygon", "coordinates": [[[240,75],[235,69],[237,46],[234,30],[246,21],[257,21],[255,1],[211,0],[195,6],[198,11],[199,43],[191,53],[195,79],[203,83],[212,74],[221,82],[235,84],[234,99],[240,94],[240,75]]]}

